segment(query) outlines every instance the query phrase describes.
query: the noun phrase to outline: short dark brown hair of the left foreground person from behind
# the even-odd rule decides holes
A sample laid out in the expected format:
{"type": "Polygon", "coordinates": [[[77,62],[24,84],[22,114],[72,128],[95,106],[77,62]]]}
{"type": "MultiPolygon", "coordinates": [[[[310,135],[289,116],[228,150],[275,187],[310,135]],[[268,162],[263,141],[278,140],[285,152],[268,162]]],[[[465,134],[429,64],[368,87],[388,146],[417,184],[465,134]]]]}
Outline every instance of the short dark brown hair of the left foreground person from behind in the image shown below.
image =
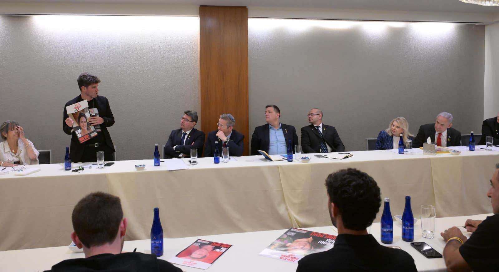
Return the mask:
{"type": "Polygon", "coordinates": [[[104,192],[83,197],[73,209],[73,229],[86,247],[111,243],[123,219],[120,198],[104,192]]]}

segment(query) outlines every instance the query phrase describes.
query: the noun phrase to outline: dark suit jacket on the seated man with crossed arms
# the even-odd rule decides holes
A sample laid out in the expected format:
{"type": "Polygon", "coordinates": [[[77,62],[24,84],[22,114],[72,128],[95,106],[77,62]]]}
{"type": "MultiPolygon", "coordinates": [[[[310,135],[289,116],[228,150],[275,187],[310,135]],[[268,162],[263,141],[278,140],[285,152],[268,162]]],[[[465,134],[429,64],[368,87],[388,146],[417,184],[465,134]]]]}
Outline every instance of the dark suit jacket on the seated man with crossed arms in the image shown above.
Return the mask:
{"type": "Polygon", "coordinates": [[[168,141],[165,144],[165,149],[163,150],[165,158],[178,158],[180,153],[190,157],[191,149],[194,148],[198,149],[198,157],[201,157],[201,154],[203,154],[203,146],[205,145],[205,133],[192,129],[191,133],[186,136],[185,145],[180,143],[182,133],[182,129],[173,130],[172,133],[170,133],[168,141]],[[174,150],[173,147],[175,145],[177,145],[177,147],[174,150]]]}

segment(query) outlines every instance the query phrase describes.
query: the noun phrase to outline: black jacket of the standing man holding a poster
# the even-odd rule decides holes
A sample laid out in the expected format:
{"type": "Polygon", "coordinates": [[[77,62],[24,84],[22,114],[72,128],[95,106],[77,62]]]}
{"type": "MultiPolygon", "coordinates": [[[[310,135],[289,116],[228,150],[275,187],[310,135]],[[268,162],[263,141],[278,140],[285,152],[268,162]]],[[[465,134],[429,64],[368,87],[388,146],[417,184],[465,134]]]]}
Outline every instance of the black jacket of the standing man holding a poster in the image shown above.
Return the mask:
{"type": "MultiPolygon", "coordinates": [[[[81,98],[81,94],[72,100],[69,100],[66,105],[64,105],[64,113],[63,113],[63,118],[62,118],[62,130],[64,131],[65,134],[71,135],[71,144],[70,144],[70,151],[69,155],[71,157],[72,162],[78,162],[81,159],[81,156],[83,155],[83,151],[85,150],[85,142],[80,143],[78,140],[78,137],[76,136],[76,133],[71,132],[73,128],[69,127],[66,125],[66,118],[68,118],[68,114],[66,112],[66,107],[73,105],[75,103],[78,103],[80,101],[83,101],[81,98]]],[[[100,125],[100,129],[102,135],[106,139],[106,145],[111,148],[111,150],[114,150],[114,144],[113,141],[111,140],[111,135],[109,135],[109,132],[107,131],[107,127],[111,127],[114,125],[114,116],[113,112],[111,112],[111,108],[109,107],[109,101],[107,100],[106,97],[104,96],[97,96],[94,98],[95,101],[95,108],[99,111],[99,117],[102,117],[104,119],[104,123],[100,125]]]]}

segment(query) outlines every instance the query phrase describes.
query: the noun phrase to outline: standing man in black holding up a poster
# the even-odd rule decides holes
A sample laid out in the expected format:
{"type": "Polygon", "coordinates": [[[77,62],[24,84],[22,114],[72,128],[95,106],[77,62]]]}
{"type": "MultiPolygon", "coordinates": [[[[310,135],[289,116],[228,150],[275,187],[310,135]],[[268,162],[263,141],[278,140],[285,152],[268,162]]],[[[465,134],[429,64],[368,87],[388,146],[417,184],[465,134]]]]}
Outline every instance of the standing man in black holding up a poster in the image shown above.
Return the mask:
{"type": "Polygon", "coordinates": [[[62,122],[64,133],[71,135],[69,148],[71,161],[96,161],[97,151],[104,151],[104,160],[114,160],[114,144],[107,131],[107,127],[114,125],[114,116],[107,98],[98,96],[100,79],[89,73],[82,73],[77,82],[81,94],[66,103],[62,122]],[[80,103],[87,107],[81,106],[80,103]],[[76,104],[75,110],[68,115],[66,107],[74,104],[76,104]],[[78,108],[80,106],[81,110],[78,108]]]}

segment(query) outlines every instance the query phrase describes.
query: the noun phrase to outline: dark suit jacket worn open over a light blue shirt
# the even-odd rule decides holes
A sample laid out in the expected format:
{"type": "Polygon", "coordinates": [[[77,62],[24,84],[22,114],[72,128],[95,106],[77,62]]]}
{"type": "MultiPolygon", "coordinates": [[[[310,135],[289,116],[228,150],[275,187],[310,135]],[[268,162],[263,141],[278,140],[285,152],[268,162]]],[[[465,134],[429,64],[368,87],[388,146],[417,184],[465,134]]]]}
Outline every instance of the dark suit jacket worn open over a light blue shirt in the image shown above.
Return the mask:
{"type": "MultiPolygon", "coordinates": [[[[286,145],[291,140],[291,146],[293,146],[294,153],[294,145],[298,144],[298,136],[296,135],[296,130],[293,126],[289,126],[281,123],[282,133],[284,134],[284,139],[286,140],[286,145]]],[[[268,124],[263,126],[259,126],[254,128],[253,135],[251,136],[251,155],[259,155],[260,153],[256,150],[263,150],[268,152],[268,146],[270,144],[269,139],[269,131],[268,124]]]]}

